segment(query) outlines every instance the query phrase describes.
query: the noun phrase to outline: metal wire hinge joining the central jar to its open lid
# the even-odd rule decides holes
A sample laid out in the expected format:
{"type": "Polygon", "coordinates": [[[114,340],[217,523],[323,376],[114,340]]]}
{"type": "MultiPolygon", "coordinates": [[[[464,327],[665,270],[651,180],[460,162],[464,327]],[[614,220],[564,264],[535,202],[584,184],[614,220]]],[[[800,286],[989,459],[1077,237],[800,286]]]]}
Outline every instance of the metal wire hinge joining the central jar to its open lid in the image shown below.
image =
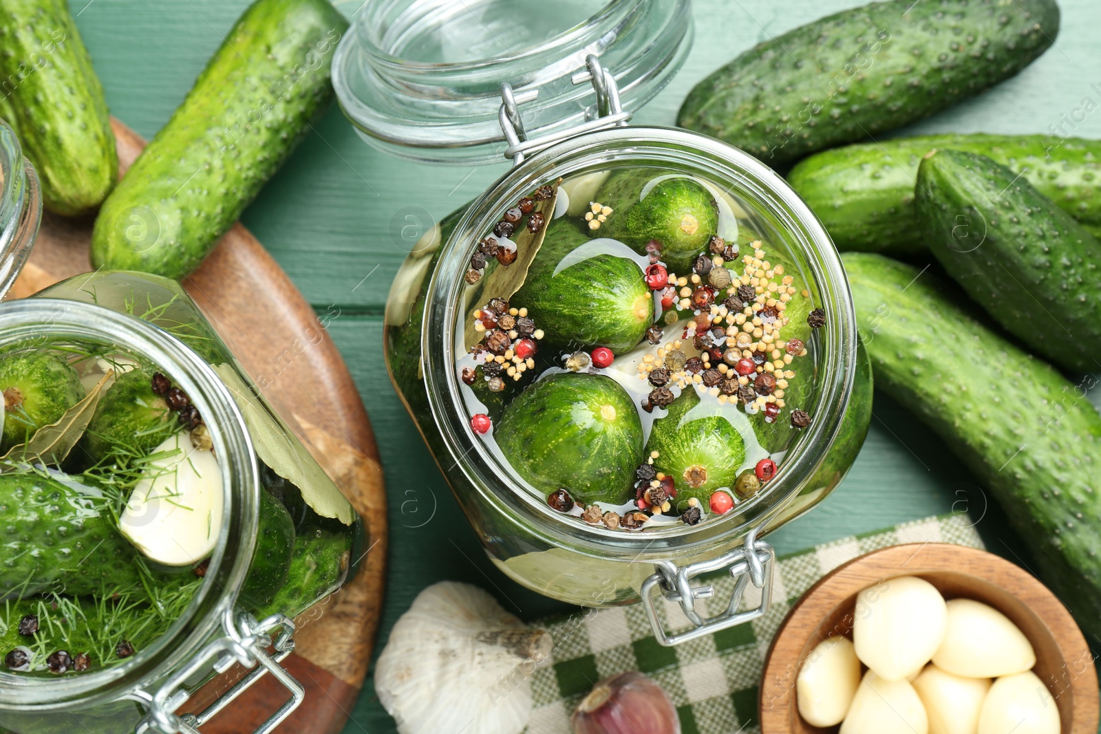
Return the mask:
{"type": "Polygon", "coordinates": [[[501,109],[498,112],[498,119],[501,122],[501,130],[504,132],[504,138],[509,142],[509,147],[504,151],[504,157],[512,158],[513,165],[523,163],[524,156],[528,153],[541,151],[567,138],[597,130],[626,125],[628,120],[631,119],[631,112],[625,111],[620,103],[619,86],[615,84],[615,77],[600,65],[600,59],[593,54],[585,57],[585,65],[588,69],[575,74],[570,77],[570,81],[575,85],[585,84],[586,81],[592,83],[592,88],[597,92],[597,117],[569,130],[547,133],[546,135],[531,140],[527,139],[527,133],[524,131],[524,122],[520,119],[519,106],[538,99],[539,90],[527,89],[517,95],[513,92],[512,85],[501,85],[502,102],[501,109]]]}

